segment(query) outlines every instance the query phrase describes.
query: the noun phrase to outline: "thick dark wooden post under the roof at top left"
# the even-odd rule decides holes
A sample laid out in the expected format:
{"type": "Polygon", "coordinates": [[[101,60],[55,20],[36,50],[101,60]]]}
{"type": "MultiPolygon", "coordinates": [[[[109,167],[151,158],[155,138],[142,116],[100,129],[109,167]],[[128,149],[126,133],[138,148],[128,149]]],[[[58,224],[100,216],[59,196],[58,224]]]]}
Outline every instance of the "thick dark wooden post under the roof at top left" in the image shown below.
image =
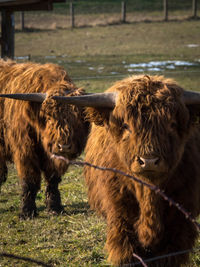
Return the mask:
{"type": "Polygon", "coordinates": [[[14,12],[2,11],[1,22],[1,57],[14,58],[15,20],[14,12]]]}

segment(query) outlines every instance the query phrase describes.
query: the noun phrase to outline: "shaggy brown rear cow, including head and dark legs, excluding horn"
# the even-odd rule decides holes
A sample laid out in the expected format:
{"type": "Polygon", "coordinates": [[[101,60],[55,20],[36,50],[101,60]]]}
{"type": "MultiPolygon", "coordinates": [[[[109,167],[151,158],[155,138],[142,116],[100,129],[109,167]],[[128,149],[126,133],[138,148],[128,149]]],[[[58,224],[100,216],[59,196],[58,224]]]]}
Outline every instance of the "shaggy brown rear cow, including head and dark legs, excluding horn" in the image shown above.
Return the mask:
{"type": "Polygon", "coordinates": [[[58,184],[67,170],[59,145],[67,147],[64,155],[76,158],[84,148],[88,123],[83,110],[61,104],[52,95],[81,95],[66,71],[55,64],[0,61],[1,93],[47,93],[43,103],[0,99],[0,185],[7,176],[6,161],[16,165],[22,186],[21,216],[36,215],[35,198],[41,174],[47,182],[46,205],[49,211],[62,210],[58,184]]]}

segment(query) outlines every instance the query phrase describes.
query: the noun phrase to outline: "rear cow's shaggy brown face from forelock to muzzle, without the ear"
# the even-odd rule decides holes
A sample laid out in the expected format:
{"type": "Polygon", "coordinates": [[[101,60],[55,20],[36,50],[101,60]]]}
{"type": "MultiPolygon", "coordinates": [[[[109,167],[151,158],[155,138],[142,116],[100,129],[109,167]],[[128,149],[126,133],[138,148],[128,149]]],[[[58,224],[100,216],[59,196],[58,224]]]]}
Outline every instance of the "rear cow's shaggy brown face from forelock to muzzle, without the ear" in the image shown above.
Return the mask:
{"type": "Polygon", "coordinates": [[[40,114],[43,123],[40,134],[45,150],[60,158],[76,158],[86,139],[83,111],[54,100],[49,100],[44,106],[40,114]]]}

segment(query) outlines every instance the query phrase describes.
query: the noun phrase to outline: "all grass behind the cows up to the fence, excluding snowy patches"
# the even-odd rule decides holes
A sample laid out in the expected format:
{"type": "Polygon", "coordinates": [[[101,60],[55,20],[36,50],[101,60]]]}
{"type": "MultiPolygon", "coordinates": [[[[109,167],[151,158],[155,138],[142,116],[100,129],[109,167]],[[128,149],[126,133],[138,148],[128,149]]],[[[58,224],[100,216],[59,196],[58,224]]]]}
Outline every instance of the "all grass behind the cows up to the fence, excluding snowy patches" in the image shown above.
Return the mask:
{"type": "MultiPolygon", "coordinates": [[[[18,57],[29,55],[37,62],[51,61],[63,65],[77,85],[88,91],[102,91],[117,79],[132,74],[122,62],[199,62],[199,32],[198,20],[17,32],[15,54],[18,57]],[[189,48],[189,44],[198,46],[189,48]],[[94,69],[89,70],[89,67],[94,69]],[[98,72],[101,67],[102,71],[98,72]]],[[[198,71],[199,67],[182,68],[161,74],[177,79],[185,88],[199,90],[198,71]]]]}

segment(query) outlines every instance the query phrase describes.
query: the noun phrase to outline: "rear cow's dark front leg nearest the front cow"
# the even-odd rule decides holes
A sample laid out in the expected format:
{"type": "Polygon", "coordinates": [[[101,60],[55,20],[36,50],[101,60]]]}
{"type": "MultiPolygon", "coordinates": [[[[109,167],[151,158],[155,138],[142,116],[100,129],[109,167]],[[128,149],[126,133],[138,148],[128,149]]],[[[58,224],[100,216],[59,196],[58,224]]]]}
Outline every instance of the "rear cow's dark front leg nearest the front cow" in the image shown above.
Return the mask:
{"type": "Polygon", "coordinates": [[[45,201],[47,210],[51,213],[59,214],[63,211],[60,191],[58,189],[58,185],[61,182],[61,177],[53,172],[51,175],[47,175],[46,173],[45,178],[47,181],[45,201]]]}

